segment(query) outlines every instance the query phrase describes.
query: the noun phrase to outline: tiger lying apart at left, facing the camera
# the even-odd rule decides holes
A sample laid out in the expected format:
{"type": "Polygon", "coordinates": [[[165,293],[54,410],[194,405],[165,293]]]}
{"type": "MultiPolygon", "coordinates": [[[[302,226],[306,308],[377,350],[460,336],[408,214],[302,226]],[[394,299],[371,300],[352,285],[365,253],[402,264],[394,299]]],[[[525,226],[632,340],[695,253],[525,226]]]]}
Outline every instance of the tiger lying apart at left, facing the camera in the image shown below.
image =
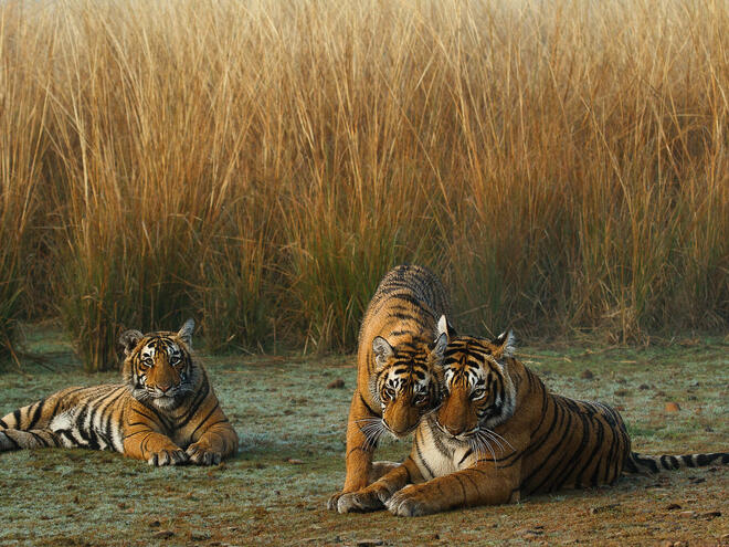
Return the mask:
{"type": "Polygon", "coordinates": [[[208,375],[191,355],[194,320],[178,333],[127,330],[123,382],[73,387],[0,420],[0,452],[112,450],[149,465],[219,464],[237,450],[208,375]]]}

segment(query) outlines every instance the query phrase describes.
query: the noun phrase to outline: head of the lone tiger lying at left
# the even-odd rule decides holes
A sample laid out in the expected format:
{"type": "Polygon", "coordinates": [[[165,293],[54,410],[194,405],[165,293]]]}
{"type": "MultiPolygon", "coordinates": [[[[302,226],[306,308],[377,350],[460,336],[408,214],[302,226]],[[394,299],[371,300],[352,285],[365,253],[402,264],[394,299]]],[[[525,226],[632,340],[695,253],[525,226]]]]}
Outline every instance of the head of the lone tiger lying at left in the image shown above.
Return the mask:
{"type": "Polygon", "coordinates": [[[127,330],[122,335],[124,379],[135,399],[170,410],[194,391],[200,370],[190,356],[193,330],[194,320],[188,319],[178,333],[127,330]]]}

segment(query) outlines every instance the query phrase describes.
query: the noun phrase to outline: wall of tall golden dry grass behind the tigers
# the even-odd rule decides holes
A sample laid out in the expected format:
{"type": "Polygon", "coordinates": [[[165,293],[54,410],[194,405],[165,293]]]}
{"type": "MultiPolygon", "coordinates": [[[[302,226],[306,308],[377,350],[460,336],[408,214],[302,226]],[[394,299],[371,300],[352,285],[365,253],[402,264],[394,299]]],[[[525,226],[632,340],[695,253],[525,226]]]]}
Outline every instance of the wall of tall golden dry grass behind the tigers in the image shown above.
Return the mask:
{"type": "Polygon", "coordinates": [[[219,350],[351,348],[402,261],[445,278],[464,329],[729,322],[726,2],[2,13],[6,104],[41,122],[0,139],[40,150],[38,267],[92,369],[122,326],[188,314],[219,350]]]}

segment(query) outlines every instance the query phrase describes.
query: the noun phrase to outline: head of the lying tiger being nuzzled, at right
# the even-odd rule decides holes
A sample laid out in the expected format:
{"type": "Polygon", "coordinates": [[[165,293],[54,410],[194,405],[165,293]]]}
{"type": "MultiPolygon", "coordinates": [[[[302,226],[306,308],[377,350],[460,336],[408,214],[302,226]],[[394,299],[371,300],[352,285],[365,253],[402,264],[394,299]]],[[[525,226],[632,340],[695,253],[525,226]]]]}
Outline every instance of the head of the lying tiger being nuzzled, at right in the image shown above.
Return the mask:
{"type": "Polygon", "coordinates": [[[451,340],[443,360],[445,397],[436,415],[448,438],[475,449],[498,439],[493,429],[514,415],[516,404],[508,372],[514,350],[511,332],[493,341],[471,336],[451,340]]]}

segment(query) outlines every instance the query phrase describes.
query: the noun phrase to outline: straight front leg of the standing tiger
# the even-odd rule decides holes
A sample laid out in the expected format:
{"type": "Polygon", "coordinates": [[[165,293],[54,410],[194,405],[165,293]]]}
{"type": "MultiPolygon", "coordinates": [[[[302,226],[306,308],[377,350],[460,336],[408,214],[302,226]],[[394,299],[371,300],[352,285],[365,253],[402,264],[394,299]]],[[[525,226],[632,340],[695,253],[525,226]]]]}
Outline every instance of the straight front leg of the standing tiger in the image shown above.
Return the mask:
{"type": "Polygon", "coordinates": [[[362,433],[362,427],[366,420],[381,419],[382,417],[373,414],[359,393],[355,390],[352,402],[349,408],[349,420],[347,422],[347,455],[345,477],[345,487],[341,492],[332,495],[327,503],[330,511],[337,511],[337,503],[342,494],[357,492],[367,486],[367,480],[372,469],[372,453],[374,445],[368,442],[362,433]]]}

